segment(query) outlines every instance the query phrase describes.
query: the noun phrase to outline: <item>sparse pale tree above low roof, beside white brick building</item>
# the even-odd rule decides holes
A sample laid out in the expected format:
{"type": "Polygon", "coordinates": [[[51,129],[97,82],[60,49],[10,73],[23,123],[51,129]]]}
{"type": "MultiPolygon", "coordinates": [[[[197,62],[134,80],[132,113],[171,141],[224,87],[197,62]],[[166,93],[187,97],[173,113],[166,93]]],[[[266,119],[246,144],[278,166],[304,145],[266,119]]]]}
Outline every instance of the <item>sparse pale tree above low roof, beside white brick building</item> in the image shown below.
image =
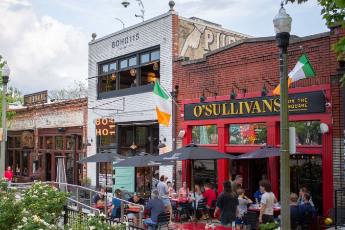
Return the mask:
{"type": "Polygon", "coordinates": [[[87,86],[86,83],[75,80],[74,84],[68,86],[67,89],[59,89],[59,87],[55,87],[53,90],[49,91],[49,95],[52,99],[55,99],[55,101],[86,98],[87,86]]]}

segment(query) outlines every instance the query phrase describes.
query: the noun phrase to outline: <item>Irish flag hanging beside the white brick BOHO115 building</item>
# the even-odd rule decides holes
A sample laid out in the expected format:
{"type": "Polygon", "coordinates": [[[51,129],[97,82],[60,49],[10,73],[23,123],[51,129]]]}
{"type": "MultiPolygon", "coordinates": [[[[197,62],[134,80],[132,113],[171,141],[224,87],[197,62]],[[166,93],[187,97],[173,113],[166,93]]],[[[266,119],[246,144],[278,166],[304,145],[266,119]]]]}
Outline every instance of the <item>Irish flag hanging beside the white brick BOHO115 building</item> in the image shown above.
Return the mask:
{"type": "Polygon", "coordinates": [[[168,95],[164,93],[157,80],[154,84],[153,95],[156,102],[158,123],[168,127],[172,113],[171,105],[168,102],[168,95]]]}

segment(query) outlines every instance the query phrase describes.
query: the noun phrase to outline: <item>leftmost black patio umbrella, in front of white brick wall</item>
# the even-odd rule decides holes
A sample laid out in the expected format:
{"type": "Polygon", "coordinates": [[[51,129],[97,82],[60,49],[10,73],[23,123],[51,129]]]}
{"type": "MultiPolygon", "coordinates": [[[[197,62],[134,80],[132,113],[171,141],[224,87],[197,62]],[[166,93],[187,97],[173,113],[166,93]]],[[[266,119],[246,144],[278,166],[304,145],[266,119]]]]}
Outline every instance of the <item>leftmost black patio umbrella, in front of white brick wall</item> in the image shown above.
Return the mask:
{"type": "MultiPolygon", "coordinates": [[[[99,153],[86,157],[85,159],[78,160],[78,163],[98,163],[98,162],[121,162],[128,157],[110,152],[108,150],[100,151],[99,153]]],[[[107,193],[108,183],[107,183],[107,168],[105,168],[105,193],[107,193]]]]}

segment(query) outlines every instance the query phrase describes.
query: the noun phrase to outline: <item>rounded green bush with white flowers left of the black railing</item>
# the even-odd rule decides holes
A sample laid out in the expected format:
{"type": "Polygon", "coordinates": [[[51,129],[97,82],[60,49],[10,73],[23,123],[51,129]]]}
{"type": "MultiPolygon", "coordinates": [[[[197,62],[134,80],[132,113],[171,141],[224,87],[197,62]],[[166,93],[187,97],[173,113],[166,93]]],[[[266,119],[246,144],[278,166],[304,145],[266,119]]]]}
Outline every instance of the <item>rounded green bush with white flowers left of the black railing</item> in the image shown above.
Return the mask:
{"type": "Polygon", "coordinates": [[[38,181],[22,192],[22,196],[21,203],[32,216],[57,224],[63,216],[63,204],[71,193],[59,192],[55,187],[38,181]]]}

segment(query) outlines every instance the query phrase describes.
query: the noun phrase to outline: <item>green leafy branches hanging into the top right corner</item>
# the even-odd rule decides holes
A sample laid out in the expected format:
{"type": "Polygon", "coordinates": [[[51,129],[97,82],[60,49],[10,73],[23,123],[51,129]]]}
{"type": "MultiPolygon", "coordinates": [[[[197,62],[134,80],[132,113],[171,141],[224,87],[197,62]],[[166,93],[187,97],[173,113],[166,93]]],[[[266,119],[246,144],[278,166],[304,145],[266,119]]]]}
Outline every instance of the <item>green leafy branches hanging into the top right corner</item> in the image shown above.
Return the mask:
{"type": "MultiPolygon", "coordinates": [[[[285,4],[288,2],[302,4],[308,2],[308,0],[285,0],[285,4]]],[[[321,15],[326,19],[326,25],[333,26],[336,22],[341,23],[345,18],[345,1],[344,0],[317,0],[317,3],[322,7],[321,15]]],[[[345,28],[345,23],[342,24],[342,28],[345,28]]],[[[332,45],[332,50],[339,52],[338,60],[340,60],[345,53],[345,37],[332,45]]],[[[343,59],[345,61],[345,57],[343,59]]],[[[339,80],[341,87],[345,83],[345,74],[339,80]]]]}

